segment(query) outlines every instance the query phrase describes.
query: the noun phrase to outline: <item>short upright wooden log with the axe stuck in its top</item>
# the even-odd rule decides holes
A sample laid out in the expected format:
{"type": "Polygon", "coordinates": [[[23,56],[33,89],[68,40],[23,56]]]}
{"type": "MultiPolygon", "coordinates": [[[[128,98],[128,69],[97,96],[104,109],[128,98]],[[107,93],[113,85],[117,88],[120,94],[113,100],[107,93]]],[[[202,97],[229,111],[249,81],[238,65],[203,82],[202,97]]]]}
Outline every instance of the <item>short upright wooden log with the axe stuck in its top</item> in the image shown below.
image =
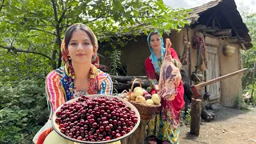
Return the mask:
{"type": "Polygon", "coordinates": [[[192,98],[190,133],[199,135],[201,123],[202,100],[192,98]]]}

